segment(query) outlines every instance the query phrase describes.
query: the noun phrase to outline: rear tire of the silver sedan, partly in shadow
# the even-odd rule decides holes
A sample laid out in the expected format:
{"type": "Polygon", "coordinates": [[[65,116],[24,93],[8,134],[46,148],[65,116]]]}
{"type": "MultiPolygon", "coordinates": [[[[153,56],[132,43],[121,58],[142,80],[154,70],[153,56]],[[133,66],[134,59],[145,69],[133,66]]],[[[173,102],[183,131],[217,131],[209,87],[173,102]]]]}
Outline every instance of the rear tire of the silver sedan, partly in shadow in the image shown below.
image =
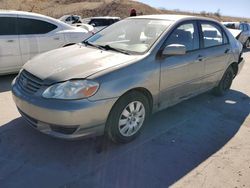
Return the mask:
{"type": "Polygon", "coordinates": [[[219,82],[219,85],[214,88],[214,94],[217,96],[225,95],[230,90],[233,79],[234,79],[234,71],[233,68],[230,66],[224,73],[221,81],[219,82]]]}

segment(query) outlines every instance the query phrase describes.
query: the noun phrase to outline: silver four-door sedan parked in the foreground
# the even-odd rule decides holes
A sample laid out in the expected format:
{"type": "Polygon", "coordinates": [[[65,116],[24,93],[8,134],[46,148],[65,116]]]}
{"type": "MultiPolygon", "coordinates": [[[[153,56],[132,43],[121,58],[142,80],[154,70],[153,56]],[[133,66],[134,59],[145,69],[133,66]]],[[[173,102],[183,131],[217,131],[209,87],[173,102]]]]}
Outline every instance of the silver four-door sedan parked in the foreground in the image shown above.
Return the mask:
{"type": "Polygon", "coordinates": [[[152,113],[208,90],[228,92],[241,53],[232,34],[208,18],[127,18],[30,60],[12,83],[13,99],[43,133],[129,142],[152,113]]]}

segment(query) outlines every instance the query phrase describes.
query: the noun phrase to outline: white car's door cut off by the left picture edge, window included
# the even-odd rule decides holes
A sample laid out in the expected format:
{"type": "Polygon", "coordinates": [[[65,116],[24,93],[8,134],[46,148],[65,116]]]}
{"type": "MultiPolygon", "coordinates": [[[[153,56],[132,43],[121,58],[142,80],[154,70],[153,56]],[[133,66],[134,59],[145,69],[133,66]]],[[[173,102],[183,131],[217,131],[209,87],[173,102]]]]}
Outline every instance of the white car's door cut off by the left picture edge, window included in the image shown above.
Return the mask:
{"type": "Polygon", "coordinates": [[[16,72],[21,68],[16,15],[0,17],[0,73],[16,72]]]}

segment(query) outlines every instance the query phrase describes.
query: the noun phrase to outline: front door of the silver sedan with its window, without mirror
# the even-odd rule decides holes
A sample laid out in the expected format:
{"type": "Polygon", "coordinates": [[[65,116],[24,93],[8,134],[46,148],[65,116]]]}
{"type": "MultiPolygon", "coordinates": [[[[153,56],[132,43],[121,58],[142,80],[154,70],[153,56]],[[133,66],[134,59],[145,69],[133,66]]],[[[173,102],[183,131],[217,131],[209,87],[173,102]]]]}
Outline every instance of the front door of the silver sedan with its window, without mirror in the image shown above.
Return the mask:
{"type": "Polygon", "coordinates": [[[199,92],[200,79],[204,75],[204,62],[200,59],[197,22],[185,22],[177,26],[167,38],[164,47],[171,44],[184,45],[187,53],[159,60],[162,108],[199,92]]]}

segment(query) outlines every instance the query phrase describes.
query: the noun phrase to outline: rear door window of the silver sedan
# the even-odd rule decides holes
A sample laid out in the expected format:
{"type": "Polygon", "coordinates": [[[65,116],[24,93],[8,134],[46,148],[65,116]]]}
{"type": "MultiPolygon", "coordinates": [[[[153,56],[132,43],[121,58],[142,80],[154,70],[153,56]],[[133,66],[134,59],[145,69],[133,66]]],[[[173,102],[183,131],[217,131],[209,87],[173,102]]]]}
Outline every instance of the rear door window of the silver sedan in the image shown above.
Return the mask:
{"type": "Polygon", "coordinates": [[[205,48],[227,43],[226,39],[223,39],[223,33],[221,32],[221,28],[219,26],[208,23],[201,24],[201,28],[205,48]]]}

